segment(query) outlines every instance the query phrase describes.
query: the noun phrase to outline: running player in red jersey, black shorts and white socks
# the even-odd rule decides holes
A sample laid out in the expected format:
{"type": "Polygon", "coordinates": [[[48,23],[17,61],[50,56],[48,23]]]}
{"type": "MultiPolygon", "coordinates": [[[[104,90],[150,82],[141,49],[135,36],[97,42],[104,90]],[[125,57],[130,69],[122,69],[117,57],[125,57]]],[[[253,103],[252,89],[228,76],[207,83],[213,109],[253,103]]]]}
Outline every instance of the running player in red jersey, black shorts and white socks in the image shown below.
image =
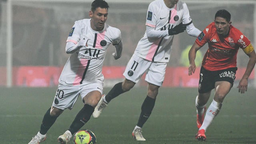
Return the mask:
{"type": "Polygon", "coordinates": [[[196,139],[201,141],[206,139],[206,129],[220,112],[222,102],[234,84],[238,49],[242,48],[249,57],[246,71],[237,87],[238,92],[247,91],[248,77],[256,63],[256,54],[250,40],[231,25],[230,18],[231,15],[227,10],[218,10],[214,22],[206,26],[188,54],[190,62],[188,75],[192,75],[196,70],[194,62],[196,52],[208,43],[209,48],[202,61],[198,96],[196,96],[197,126],[199,128],[196,139]],[[214,88],[214,98],[206,110],[206,103],[214,88]]]}

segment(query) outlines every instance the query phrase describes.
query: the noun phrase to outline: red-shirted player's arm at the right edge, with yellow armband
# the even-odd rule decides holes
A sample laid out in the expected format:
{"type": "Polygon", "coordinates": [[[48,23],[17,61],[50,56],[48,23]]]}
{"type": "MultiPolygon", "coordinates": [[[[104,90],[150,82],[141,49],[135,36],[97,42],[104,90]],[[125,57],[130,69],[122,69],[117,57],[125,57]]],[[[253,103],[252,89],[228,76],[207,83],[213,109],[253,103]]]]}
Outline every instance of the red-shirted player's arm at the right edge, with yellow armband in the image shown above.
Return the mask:
{"type": "Polygon", "coordinates": [[[244,72],[244,75],[237,86],[238,92],[241,92],[241,93],[244,93],[245,91],[247,91],[248,78],[249,78],[250,74],[252,73],[252,70],[256,63],[256,53],[254,51],[252,44],[250,44],[249,46],[244,48],[243,51],[244,51],[244,53],[247,54],[247,56],[249,56],[249,61],[248,61],[246,70],[244,72]]]}

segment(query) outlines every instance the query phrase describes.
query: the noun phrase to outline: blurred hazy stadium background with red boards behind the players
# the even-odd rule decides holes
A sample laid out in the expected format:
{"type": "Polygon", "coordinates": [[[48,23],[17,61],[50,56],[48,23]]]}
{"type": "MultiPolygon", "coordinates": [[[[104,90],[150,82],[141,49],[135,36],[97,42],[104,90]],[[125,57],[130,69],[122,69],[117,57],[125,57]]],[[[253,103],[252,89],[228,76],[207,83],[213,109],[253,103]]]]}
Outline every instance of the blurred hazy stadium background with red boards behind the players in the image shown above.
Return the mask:
{"type": "MultiPolygon", "coordinates": [[[[256,0],[184,0],[194,25],[202,30],[214,20],[219,9],[232,15],[232,24],[240,29],[255,46],[256,0]]],[[[0,86],[48,87],[58,84],[58,76],[68,59],[65,44],[75,20],[89,18],[92,0],[1,0],[0,1],[0,86]]],[[[107,23],[122,32],[122,58],[114,60],[110,47],[103,73],[105,86],[123,79],[122,72],[136,44],[145,32],[148,4],[152,0],[107,0],[110,5],[107,23]]],[[[186,32],[176,35],[166,72],[164,87],[197,87],[200,62],[207,45],[198,54],[198,69],[188,76],[188,49],[195,38],[186,32]]],[[[239,80],[248,57],[238,52],[239,80]]],[[[251,87],[256,87],[254,72],[251,87]]],[[[140,80],[137,86],[145,85],[140,80]]]]}

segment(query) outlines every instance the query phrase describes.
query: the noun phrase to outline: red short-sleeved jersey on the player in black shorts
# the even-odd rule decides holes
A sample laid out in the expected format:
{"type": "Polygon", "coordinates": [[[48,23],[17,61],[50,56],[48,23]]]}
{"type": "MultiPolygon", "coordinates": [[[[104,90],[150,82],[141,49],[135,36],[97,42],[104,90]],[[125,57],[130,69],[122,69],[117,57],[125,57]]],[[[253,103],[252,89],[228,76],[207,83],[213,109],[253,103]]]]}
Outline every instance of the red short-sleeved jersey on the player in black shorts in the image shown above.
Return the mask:
{"type": "Polygon", "coordinates": [[[238,49],[246,48],[251,42],[232,25],[227,36],[218,35],[215,24],[212,22],[196,39],[196,44],[201,47],[206,43],[209,48],[204,55],[202,66],[206,70],[215,71],[236,67],[238,49]]]}

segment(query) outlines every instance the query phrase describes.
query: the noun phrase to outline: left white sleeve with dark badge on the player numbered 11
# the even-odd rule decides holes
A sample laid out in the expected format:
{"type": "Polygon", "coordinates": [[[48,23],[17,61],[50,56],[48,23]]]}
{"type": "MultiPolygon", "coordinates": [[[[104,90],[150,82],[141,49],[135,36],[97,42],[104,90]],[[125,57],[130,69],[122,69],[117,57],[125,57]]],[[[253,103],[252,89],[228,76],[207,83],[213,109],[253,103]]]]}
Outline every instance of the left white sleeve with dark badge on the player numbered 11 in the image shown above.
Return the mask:
{"type": "Polygon", "coordinates": [[[150,26],[152,28],[156,27],[156,8],[154,8],[154,4],[150,3],[148,6],[148,13],[146,19],[146,26],[150,26]]]}

